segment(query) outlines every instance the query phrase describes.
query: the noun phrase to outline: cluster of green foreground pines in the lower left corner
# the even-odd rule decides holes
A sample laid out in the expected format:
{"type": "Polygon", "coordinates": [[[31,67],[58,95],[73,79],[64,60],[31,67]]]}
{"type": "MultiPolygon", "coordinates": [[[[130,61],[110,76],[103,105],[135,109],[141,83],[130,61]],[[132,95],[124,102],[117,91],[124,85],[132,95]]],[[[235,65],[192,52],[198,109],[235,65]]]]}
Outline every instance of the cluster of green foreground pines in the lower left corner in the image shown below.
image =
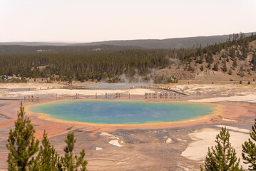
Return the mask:
{"type": "Polygon", "coordinates": [[[73,155],[76,143],[73,132],[67,135],[63,156],[58,155],[51,145],[45,130],[39,147],[39,140],[34,137],[35,132],[21,103],[14,130],[10,130],[6,144],[9,150],[7,160],[9,171],[86,171],[88,162],[85,160],[85,150],[81,150],[79,156],[73,155]]]}

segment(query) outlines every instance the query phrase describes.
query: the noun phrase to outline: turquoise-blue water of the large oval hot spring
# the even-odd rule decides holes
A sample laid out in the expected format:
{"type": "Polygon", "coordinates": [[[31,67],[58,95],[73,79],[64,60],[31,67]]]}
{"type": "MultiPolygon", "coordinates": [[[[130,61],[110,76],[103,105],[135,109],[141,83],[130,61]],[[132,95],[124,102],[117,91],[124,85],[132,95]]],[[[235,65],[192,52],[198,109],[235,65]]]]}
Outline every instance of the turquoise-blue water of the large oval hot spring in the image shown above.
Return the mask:
{"type": "Polygon", "coordinates": [[[33,113],[84,123],[140,124],[164,123],[210,115],[213,104],[144,102],[138,100],[70,100],[34,105],[33,113]]]}

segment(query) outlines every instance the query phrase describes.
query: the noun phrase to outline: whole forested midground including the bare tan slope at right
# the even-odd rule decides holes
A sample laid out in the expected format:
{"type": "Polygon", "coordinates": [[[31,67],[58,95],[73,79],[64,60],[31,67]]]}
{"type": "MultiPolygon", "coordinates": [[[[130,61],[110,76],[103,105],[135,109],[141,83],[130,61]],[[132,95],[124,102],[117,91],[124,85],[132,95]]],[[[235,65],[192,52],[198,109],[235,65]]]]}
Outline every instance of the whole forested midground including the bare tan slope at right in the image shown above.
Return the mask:
{"type": "Polygon", "coordinates": [[[242,80],[255,76],[255,40],[253,34],[245,37],[240,33],[230,36],[225,43],[205,48],[199,45],[170,50],[79,51],[74,46],[74,51],[66,51],[52,46],[55,50],[34,52],[35,46],[26,46],[32,50],[26,49],[26,53],[22,53],[22,48],[19,53],[1,51],[0,76],[19,74],[25,78],[48,78],[48,81],[105,80],[111,83],[121,81],[121,76],[130,81],[155,83],[186,78],[242,80]]]}

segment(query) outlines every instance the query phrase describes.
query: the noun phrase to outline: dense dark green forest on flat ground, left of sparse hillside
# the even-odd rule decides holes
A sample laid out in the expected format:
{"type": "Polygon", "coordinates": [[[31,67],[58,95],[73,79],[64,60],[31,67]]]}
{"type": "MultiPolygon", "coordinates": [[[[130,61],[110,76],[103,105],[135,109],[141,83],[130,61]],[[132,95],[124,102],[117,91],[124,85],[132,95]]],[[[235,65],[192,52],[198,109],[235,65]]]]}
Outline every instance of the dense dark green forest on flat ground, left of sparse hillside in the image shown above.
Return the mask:
{"type": "Polygon", "coordinates": [[[122,74],[142,76],[150,73],[152,68],[165,68],[168,63],[162,50],[1,54],[0,76],[19,73],[26,78],[50,78],[56,81],[100,81],[122,74]],[[46,67],[40,69],[39,66],[46,67]]]}

